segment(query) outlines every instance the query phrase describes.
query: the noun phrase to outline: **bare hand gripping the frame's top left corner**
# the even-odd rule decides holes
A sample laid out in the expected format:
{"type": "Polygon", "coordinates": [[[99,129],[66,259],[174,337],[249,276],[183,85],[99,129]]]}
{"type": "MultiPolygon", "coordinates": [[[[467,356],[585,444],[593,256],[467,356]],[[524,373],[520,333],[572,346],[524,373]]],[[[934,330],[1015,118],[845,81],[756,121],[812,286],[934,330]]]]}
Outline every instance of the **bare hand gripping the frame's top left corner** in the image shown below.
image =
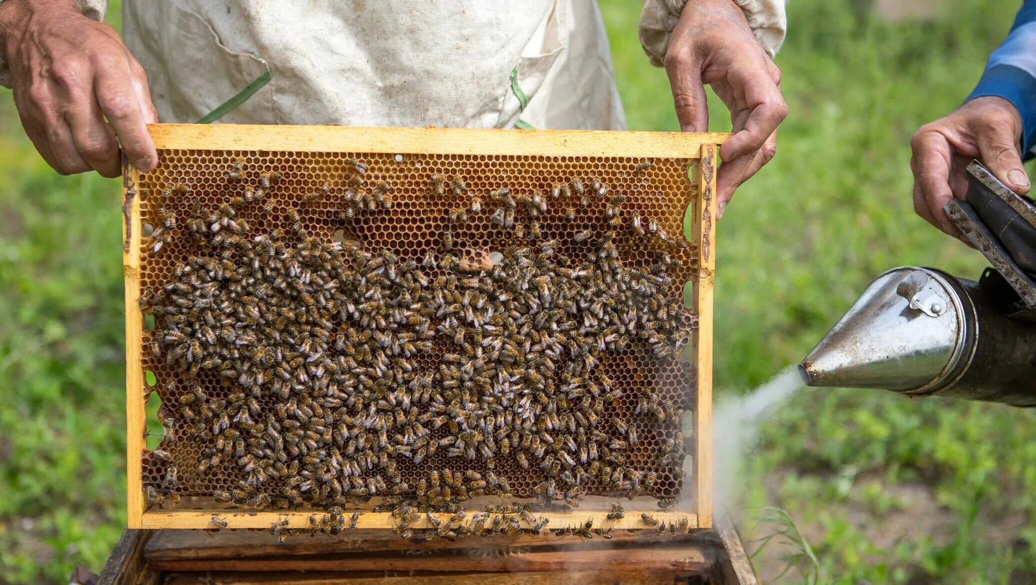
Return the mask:
{"type": "Polygon", "coordinates": [[[22,125],[55,171],[116,177],[119,144],[135,167],[154,168],[147,77],[112,27],[69,0],[5,0],[0,39],[22,125]]]}

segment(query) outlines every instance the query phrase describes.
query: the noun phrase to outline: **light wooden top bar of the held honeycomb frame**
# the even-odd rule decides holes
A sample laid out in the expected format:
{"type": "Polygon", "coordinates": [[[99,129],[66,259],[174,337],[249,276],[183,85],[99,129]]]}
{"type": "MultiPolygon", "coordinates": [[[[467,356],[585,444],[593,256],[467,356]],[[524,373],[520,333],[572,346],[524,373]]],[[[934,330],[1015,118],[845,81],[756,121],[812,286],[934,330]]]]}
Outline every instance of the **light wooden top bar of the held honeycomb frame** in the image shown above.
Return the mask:
{"type": "Polygon", "coordinates": [[[248,124],[150,124],[155,148],[697,158],[730,135],[248,124]]]}

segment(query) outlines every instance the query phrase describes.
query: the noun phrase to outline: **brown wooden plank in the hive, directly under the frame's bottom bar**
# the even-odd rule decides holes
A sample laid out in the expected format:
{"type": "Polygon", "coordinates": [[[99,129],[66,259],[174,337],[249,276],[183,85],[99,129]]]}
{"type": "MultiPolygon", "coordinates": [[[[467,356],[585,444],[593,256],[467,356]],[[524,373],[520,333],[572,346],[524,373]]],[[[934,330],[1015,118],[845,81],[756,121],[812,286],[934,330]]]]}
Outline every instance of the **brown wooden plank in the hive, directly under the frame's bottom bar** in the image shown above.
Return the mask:
{"type": "MultiPolygon", "coordinates": [[[[654,530],[627,532],[616,530],[611,533],[608,543],[618,544],[663,544],[687,543],[693,548],[695,540],[703,546],[715,547],[712,542],[704,542],[701,534],[663,534],[657,535],[654,530]]],[[[595,540],[596,537],[595,537],[595,540]]],[[[157,530],[144,549],[144,558],[148,561],[168,559],[203,559],[203,558],[247,558],[267,555],[315,555],[315,554],[349,554],[357,552],[378,551],[413,551],[413,550],[454,550],[465,549],[472,554],[486,554],[487,550],[508,549],[513,547],[580,547],[585,540],[577,536],[557,537],[552,532],[543,534],[491,534],[485,537],[458,538],[448,540],[437,538],[427,542],[420,538],[400,538],[391,530],[363,529],[347,530],[342,534],[316,534],[314,536],[289,536],[284,543],[269,532],[229,531],[218,533],[201,530],[157,530]]]]}

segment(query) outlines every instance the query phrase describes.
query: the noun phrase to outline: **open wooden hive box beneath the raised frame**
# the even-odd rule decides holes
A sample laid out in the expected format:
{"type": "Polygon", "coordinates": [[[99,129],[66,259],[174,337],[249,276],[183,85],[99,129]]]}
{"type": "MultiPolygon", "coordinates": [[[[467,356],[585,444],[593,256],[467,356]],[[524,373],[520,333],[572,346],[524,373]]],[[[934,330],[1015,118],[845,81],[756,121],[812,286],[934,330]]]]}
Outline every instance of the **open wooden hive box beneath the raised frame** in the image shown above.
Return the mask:
{"type": "Polygon", "coordinates": [[[196,583],[540,584],[622,582],[671,585],[688,580],[756,585],[754,571],[729,519],[711,531],[678,536],[617,531],[583,542],[553,534],[486,538],[405,539],[383,530],[278,543],[266,532],[126,530],[98,585],[196,583]]]}

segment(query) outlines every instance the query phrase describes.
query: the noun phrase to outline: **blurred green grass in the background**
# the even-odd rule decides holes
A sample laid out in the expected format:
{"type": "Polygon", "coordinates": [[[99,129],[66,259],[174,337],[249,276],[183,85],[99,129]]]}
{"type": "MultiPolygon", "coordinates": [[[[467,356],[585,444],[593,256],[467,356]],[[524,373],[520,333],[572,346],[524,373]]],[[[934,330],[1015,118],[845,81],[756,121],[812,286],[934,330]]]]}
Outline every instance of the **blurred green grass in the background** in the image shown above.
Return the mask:
{"type": "MultiPolygon", "coordinates": [[[[638,3],[601,4],[630,127],[675,129],[665,74],[636,39],[638,3]]],[[[778,154],[719,226],[720,394],[797,362],[887,268],[977,276],[983,264],[914,215],[908,141],[967,95],[1018,2],[952,2],[903,24],[864,4],[788,6],[778,154]]],[[[0,583],[59,583],[99,569],[124,524],[118,183],[51,172],[3,101],[0,583]]],[[[744,462],[735,516],[747,540],[773,531],[751,510],[787,510],[822,583],[1029,583],[1034,436],[1031,413],[997,405],[803,390],[744,462]]],[[[779,574],[781,556],[768,545],[759,573],[779,574]]],[[[784,582],[814,575],[804,562],[784,582]]]]}

